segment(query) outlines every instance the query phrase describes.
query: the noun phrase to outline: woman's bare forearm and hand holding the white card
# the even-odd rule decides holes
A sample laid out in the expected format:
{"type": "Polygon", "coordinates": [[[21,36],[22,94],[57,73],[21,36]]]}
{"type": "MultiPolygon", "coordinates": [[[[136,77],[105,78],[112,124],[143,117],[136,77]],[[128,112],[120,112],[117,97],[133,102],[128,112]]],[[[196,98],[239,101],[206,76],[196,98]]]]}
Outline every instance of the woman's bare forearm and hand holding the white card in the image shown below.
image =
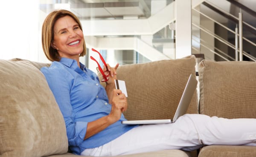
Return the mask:
{"type": "Polygon", "coordinates": [[[84,140],[101,132],[111,124],[118,121],[122,112],[127,109],[127,100],[121,90],[113,90],[112,92],[112,109],[109,115],[97,119],[87,124],[87,131],[84,140]]]}

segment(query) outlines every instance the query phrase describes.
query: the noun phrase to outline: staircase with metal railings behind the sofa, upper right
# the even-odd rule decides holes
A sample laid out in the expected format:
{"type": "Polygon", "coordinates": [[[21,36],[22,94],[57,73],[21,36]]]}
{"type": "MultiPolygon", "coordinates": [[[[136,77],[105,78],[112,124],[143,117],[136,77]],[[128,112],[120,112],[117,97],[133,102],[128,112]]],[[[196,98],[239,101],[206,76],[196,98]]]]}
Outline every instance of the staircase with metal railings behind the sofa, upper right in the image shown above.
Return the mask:
{"type": "Polygon", "coordinates": [[[223,0],[226,8],[215,3],[192,8],[192,53],[213,61],[255,62],[256,12],[235,0],[223,0]]]}

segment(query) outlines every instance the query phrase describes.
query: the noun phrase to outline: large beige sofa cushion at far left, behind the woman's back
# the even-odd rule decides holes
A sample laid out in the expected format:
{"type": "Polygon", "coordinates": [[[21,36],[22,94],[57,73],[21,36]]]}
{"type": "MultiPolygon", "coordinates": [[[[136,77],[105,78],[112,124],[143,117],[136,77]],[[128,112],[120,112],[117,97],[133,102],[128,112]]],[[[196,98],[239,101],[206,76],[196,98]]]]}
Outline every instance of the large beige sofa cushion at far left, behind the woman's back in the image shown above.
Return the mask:
{"type": "Polygon", "coordinates": [[[0,156],[67,152],[63,116],[44,75],[27,61],[0,60],[0,156]]]}

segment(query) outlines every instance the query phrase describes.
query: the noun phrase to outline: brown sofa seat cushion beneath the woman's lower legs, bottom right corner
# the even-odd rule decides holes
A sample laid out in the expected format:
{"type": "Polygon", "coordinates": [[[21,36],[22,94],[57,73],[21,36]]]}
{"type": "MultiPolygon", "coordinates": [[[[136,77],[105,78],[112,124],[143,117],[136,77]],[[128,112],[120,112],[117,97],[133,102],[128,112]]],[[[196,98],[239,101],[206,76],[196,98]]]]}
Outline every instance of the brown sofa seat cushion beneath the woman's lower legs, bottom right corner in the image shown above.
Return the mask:
{"type": "Polygon", "coordinates": [[[256,157],[255,146],[205,146],[198,157],[256,157]]]}

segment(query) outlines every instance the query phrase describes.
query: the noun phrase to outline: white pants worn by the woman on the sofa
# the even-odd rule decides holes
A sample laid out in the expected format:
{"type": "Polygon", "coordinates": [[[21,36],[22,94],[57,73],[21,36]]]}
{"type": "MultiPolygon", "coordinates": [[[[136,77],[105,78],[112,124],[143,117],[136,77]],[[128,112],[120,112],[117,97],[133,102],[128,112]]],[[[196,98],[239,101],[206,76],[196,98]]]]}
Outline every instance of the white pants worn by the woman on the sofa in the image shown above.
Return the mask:
{"type": "Polygon", "coordinates": [[[204,145],[256,146],[256,119],[186,114],[175,123],[141,125],[84,156],[116,156],[163,149],[195,150],[204,145]]]}

